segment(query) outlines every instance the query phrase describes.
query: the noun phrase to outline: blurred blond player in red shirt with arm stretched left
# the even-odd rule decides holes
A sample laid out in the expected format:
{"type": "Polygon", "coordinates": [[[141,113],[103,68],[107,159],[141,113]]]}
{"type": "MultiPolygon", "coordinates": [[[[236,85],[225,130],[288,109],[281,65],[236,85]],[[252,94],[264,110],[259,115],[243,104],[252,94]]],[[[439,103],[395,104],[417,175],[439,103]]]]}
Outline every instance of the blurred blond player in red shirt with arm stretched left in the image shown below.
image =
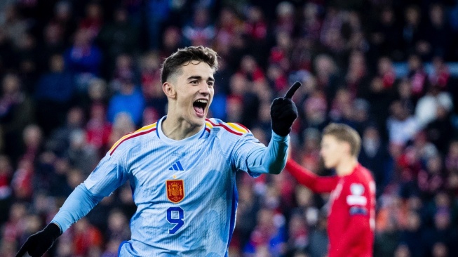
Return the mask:
{"type": "Polygon", "coordinates": [[[330,192],[329,257],[370,257],[374,244],[375,182],[358,163],[361,138],[351,127],[330,124],[323,131],[321,157],[337,176],[316,176],[292,159],[285,169],[314,192],[330,192]]]}

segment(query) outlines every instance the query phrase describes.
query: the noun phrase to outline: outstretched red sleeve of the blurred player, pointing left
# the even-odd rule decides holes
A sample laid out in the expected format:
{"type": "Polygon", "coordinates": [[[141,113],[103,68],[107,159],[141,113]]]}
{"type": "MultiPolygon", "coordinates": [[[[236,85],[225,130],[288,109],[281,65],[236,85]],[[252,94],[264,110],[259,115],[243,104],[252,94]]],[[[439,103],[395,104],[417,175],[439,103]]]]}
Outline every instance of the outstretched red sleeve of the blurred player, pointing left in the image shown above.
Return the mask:
{"type": "Polygon", "coordinates": [[[289,171],[300,184],[309,187],[314,192],[331,192],[339,182],[339,177],[337,176],[317,176],[315,173],[300,166],[292,159],[288,159],[288,162],[286,162],[286,170],[289,171]]]}

